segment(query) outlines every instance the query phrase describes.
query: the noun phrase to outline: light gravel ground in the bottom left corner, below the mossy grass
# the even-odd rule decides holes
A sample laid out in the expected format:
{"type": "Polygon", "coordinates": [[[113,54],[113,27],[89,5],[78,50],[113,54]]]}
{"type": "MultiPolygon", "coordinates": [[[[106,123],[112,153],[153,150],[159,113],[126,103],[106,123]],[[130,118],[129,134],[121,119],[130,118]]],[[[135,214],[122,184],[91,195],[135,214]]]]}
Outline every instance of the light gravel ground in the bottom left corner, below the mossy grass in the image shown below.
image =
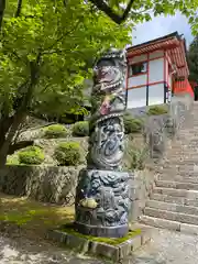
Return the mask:
{"type": "Polygon", "coordinates": [[[103,264],[48,243],[0,238],[0,264],[103,264]]]}

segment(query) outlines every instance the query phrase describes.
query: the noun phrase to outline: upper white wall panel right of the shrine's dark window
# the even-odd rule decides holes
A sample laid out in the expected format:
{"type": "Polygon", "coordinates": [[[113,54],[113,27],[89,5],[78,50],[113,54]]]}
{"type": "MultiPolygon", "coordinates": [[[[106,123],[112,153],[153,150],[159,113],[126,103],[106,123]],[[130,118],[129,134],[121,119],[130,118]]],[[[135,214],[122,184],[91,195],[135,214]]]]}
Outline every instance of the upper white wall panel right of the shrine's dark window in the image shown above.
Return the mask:
{"type": "Polygon", "coordinates": [[[150,62],[148,82],[164,81],[164,58],[150,62]]]}

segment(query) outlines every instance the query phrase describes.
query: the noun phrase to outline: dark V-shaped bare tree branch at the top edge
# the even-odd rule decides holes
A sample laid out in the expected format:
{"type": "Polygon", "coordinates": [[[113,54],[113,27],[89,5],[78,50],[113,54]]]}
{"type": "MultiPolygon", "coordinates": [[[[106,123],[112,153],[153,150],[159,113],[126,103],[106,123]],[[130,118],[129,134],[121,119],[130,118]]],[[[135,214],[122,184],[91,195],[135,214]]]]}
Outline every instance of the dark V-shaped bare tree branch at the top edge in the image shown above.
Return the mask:
{"type": "Polygon", "coordinates": [[[128,7],[125,8],[122,15],[117,14],[105,1],[101,0],[89,0],[91,3],[94,3],[99,10],[105,12],[112,21],[114,21],[117,24],[121,24],[123,21],[127,20],[130,10],[132,8],[132,4],[135,0],[130,0],[128,3],[128,7]]]}

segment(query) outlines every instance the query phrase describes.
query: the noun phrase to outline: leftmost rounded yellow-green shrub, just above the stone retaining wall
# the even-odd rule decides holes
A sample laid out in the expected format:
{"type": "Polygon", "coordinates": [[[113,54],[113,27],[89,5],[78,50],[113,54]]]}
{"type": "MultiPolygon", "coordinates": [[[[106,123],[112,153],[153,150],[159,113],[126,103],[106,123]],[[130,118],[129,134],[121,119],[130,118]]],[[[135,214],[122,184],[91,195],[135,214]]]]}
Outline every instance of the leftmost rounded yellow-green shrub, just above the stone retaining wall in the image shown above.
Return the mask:
{"type": "Polygon", "coordinates": [[[19,153],[19,162],[22,164],[42,164],[45,160],[44,152],[38,146],[28,146],[19,153]]]}

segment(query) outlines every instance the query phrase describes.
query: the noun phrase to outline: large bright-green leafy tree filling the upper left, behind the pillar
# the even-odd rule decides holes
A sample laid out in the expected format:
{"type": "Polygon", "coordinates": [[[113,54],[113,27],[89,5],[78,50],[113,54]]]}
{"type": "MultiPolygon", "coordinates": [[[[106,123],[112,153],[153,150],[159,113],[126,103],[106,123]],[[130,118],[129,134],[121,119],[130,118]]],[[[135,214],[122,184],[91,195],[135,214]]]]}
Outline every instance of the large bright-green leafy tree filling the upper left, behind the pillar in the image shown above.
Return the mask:
{"type": "MultiPolygon", "coordinates": [[[[2,14],[0,12],[0,14],[2,14]]],[[[118,26],[82,0],[23,0],[3,10],[0,43],[0,165],[33,107],[79,110],[89,59],[129,43],[118,26]]]]}

